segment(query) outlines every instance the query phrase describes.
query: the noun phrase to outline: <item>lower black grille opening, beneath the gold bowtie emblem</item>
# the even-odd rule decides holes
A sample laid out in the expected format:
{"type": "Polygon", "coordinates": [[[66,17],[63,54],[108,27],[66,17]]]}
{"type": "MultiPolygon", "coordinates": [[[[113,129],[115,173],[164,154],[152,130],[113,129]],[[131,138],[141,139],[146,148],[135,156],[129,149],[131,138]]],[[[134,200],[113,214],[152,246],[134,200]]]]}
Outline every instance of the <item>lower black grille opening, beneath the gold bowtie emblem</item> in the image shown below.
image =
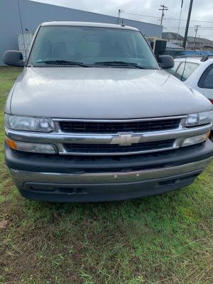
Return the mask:
{"type": "Polygon", "coordinates": [[[155,151],[164,148],[173,147],[174,140],[154,141],[146,143],[136,143],[131,146],[118,146],[114,144],[77,144],[65,143],[64,147],[67,153],[99,153],[99,154],[114,154],[114,153],[131,153],[131,152],[146,152],[155,151]]]}

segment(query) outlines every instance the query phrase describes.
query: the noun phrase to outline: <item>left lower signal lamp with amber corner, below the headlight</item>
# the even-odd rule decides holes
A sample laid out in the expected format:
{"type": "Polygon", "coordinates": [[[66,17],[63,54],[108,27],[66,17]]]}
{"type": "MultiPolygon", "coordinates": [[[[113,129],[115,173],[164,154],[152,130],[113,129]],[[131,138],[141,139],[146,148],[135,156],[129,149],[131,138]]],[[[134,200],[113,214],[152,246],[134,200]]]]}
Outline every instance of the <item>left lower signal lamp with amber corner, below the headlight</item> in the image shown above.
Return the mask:
{"type": "Polygon", "coordinates": [[[6,143],[10,148],[18,151],[25,151],[31,153],[46,153],[46,154],[56,153],[54,146],[50,144],[13,141],[7,137],[6,137],[6,143]]]}

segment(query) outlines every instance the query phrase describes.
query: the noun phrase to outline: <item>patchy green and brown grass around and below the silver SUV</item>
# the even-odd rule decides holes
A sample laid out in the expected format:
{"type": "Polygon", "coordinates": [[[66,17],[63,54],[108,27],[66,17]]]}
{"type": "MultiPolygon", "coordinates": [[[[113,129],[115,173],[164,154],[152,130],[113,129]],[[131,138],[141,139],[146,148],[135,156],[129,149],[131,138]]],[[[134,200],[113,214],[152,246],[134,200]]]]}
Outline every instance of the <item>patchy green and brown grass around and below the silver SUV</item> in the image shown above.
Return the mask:
{"type": "Polygon", "coordinates": [[[213,283],[213,163],[182,190],[126,202],[24,200],[4,165],[18,68],[0,68],[0,283],[213,283]]]}

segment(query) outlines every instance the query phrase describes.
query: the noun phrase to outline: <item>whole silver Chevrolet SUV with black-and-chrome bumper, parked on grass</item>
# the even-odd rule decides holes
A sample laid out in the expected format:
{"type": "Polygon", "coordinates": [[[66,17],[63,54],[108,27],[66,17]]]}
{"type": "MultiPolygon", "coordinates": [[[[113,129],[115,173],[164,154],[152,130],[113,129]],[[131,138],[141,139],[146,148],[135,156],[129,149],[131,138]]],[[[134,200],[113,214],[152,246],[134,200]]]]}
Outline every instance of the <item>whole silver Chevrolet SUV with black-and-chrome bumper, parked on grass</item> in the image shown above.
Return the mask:
{"type": "Polygon", "coordinates": [[[5,107],[5,156],[23,197],[124,200],[192,183],[212,160],[212,104],[124,25],[43,23],[5,107]]]}

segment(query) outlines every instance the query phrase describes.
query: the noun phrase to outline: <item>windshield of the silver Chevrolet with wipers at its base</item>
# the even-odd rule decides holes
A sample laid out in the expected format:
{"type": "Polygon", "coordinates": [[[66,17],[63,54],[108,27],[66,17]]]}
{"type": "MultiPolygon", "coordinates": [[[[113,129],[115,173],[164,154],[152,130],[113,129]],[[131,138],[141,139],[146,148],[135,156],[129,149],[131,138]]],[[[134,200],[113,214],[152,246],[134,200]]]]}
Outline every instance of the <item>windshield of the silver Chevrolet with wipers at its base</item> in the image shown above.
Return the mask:
{"type": "Polygon", "coordinates": [[[68,62],[78,67],[94,67],[104,62],[107,62],[104,67],[111,67],[118,62],[129,62],[148,69],[158,68],[151,48],[138,31],[84,26],[41,27],[28,64],[42,66],[68,62]]]}

